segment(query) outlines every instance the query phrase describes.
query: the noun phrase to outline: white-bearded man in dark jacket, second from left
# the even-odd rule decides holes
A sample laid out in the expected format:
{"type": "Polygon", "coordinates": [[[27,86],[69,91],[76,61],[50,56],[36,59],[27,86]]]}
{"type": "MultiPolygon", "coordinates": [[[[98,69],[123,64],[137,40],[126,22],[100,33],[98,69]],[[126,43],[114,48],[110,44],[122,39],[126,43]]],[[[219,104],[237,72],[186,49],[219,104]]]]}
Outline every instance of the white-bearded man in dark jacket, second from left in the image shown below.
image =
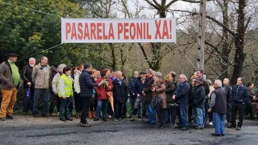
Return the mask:
{"type": "Polygon", "coordinates": [[[29,59],[29,64],[23,66],[22,69],[22,79],[23,79],[23,87],[25,91],[25,97],[23,101],[23,114],[26,115],[28,112],[28,108],[31,108],[33,111],[33,103],[34,103],[34,83],[32,82],[31,74],[33,71],[33,67],[35,66],[36,59],[31,57],[29,59]]]}

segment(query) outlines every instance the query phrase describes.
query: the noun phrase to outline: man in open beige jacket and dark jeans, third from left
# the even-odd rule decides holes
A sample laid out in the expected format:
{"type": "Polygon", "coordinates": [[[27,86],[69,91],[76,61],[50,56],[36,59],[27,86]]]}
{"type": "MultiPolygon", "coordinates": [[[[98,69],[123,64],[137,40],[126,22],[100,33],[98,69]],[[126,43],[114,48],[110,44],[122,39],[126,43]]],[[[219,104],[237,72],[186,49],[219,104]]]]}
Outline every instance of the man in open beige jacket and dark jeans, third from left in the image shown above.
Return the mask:
{"type": "Polygon", "coordinates": [[[39,111],[39,99],[42,98],[42,116],[47,116],[47,101],[49,96],[49,88],[51,87],[52,71],[47,64],[47,57],[43,56],[40,59],[40,63],[34,66],[32,71],[32,81],[35,84],[35,96],[33,105],[33,116],[38,116],[39,111]]]}

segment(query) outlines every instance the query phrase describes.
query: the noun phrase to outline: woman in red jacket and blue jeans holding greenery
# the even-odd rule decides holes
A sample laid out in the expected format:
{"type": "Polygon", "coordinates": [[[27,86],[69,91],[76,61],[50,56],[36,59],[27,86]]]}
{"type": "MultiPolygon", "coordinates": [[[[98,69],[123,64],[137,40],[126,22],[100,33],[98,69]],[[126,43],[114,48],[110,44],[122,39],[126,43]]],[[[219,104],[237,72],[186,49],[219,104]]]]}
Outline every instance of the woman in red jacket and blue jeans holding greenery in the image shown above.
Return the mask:
{"type": "Polygon", "coordinates": [[[101,72],[101,77],[97,79],[96,83],[103,83],[96,87],[97,92],[97,109],[96,109],[96,117],[94,121],[98,121],[100,117],[100,111],[102,111],[102,120],[107,121],[107,110],[108,110],[108,91],[112,91],[113,85],[111,80],[108,78],[110,74],[109,69],[103,69],[101,72]]]}

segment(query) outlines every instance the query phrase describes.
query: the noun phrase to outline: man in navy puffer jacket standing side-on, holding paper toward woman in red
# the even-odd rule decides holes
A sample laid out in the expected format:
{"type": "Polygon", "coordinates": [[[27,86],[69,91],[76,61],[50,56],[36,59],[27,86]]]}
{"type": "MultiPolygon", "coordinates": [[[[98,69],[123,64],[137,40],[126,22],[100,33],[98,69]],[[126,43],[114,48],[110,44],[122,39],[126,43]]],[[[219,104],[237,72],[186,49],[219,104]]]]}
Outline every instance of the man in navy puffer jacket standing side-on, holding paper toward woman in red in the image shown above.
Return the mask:
{"type": "Polygon", "coordinates": [[[84,64],[84,69],[82,70],[81,75],[79,76],[79,85],[81,91],[81,127],[90,127],[86,121],[86,114],[89,111],[90,100],[93,95],[92,88],[98,87],[98,83],[93,83],[91,80],[91,76],[89,70],[92,69],[91,64],[84,64]]]}

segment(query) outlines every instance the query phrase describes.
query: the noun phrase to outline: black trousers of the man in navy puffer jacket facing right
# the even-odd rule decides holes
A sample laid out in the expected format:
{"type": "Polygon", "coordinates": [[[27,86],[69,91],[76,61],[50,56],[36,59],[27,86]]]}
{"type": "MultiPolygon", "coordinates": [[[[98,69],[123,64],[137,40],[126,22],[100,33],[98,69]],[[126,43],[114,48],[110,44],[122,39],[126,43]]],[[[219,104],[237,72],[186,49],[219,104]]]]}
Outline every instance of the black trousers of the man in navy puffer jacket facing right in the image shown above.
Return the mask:
{"type": "Polygon", "coordinates": [[[81,97],[81,122],[86,123],[86,116],[89,111],[89,105],[92,97],[81,97]]]}

